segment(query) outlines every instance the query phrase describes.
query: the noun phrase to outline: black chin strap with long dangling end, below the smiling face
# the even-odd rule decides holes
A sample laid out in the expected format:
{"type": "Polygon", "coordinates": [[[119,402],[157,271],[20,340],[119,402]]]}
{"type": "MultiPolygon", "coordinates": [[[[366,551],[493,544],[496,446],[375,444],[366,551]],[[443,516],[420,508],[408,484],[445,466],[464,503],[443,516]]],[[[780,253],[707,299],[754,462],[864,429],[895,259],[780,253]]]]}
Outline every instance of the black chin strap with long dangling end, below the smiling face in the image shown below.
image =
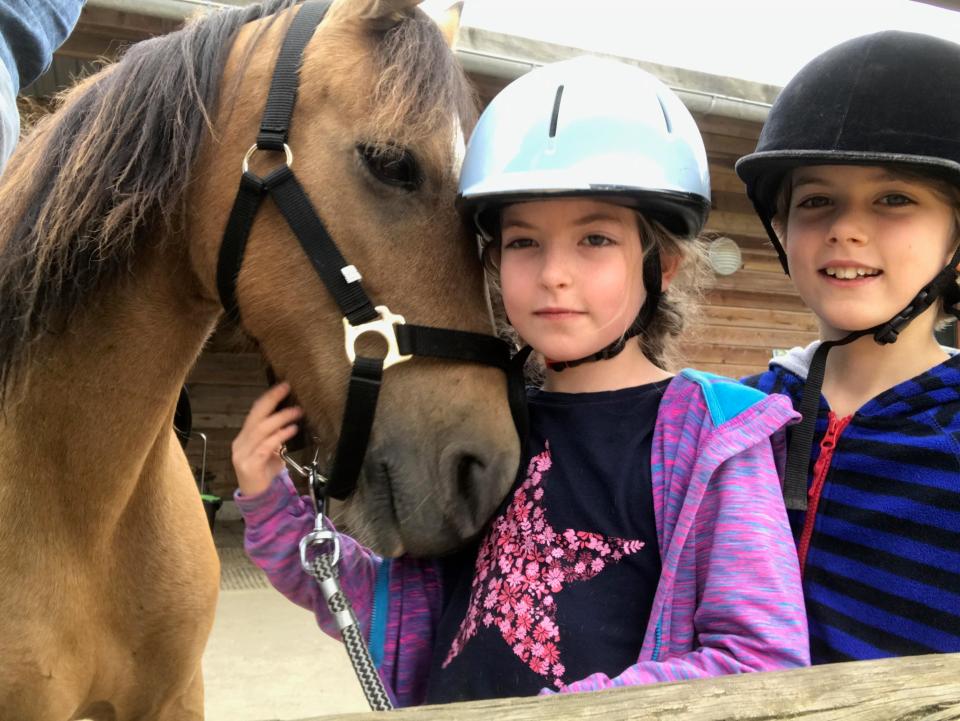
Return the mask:
{"type": "Polygon", "coordinates": [[[910,322],[929,308],[938,298],[944,299],[944,305],[957,318],[960,318],[960,287],[957,286],[957,264],[960,263],[960,247],[953,253],[950,262],[937,273],[914,296],[906,308],[891,320],[865,330],[853,331],[840,340],[825,341],[820,344],[810,361],[807,382],[800,397],[800,424],[794,429],[787,448],[787,469],[783,484],[783,498],[787,508],[796,511],[807,510],[807,471],[810,466],[810,452],[813,449],[813,435],[817,424],[817,411],[820,408],[820,391],[823,388],[823,376],[826,371],[827,354],[832,348],[852,343],[865,335],[873,335],[880,345],[895,343],[897,337],[910,322]]]}

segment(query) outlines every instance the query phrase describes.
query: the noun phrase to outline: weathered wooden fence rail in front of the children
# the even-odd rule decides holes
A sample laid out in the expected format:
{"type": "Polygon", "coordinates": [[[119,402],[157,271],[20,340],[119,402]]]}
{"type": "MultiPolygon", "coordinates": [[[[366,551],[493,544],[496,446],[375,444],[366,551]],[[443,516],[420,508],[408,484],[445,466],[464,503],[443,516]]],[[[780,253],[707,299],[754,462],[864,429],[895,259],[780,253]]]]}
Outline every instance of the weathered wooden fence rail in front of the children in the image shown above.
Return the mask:
{"type": "MultiPolygon", "coordinates": [[[[960,719],[960,654],[832,664],[550,698],[309,721],[946,721],[960,719]]],[[[306,720],[305,720],[306,721],[306,720]]]]}

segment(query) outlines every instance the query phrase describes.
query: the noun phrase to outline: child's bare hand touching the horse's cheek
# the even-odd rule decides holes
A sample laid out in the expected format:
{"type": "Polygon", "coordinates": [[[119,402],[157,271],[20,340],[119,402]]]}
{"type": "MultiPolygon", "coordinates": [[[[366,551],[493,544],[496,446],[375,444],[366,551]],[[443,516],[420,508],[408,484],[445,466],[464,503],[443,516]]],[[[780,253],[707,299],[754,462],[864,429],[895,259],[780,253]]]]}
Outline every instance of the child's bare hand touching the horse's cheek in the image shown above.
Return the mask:
{"type": "Polygon", "coordinates": [[[303,415],[303,410],[296,406],[277,410],[289,392],[289,383],[279,383],[260,396],[233,441],[233,467],[240,492],[245,496],[263,493],[283,470],[280,446],[296,435],[295,421],[303,415]]]}

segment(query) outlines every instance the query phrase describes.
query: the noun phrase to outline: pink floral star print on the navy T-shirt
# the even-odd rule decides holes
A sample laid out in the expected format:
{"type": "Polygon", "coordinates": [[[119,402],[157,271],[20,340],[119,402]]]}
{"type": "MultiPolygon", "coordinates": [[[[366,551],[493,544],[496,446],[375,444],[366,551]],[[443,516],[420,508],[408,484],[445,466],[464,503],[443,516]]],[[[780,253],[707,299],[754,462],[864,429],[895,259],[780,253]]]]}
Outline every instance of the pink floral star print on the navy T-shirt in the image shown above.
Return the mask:
{"type": "Polygon", "coordinates": [[[565,668],[554,594],[643,548],[638,540],[572,528],[556,531],[541,504],[542,484],[551,464],[547,444],[543,453],[531,459],[526,480],[487,533],[477,556],[467,614],[444,668],[476,634],[479,623],[495,626],[521,661],[556,688],[563,688],[565,668]]]}

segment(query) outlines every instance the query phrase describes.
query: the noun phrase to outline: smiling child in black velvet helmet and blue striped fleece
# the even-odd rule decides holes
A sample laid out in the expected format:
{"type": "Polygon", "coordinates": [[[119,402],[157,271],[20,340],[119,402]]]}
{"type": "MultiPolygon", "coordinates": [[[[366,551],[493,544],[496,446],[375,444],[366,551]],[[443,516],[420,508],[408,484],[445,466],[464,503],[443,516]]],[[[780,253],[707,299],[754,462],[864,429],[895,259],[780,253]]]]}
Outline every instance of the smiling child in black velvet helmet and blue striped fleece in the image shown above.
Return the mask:
{"type": "Polygon", "coordinates": [[[960,46],[882,32],[805,66],[737,163],[821,341],[747,379],[790,395],[784,494],[815,663],[960,651],[960,46]]]}

